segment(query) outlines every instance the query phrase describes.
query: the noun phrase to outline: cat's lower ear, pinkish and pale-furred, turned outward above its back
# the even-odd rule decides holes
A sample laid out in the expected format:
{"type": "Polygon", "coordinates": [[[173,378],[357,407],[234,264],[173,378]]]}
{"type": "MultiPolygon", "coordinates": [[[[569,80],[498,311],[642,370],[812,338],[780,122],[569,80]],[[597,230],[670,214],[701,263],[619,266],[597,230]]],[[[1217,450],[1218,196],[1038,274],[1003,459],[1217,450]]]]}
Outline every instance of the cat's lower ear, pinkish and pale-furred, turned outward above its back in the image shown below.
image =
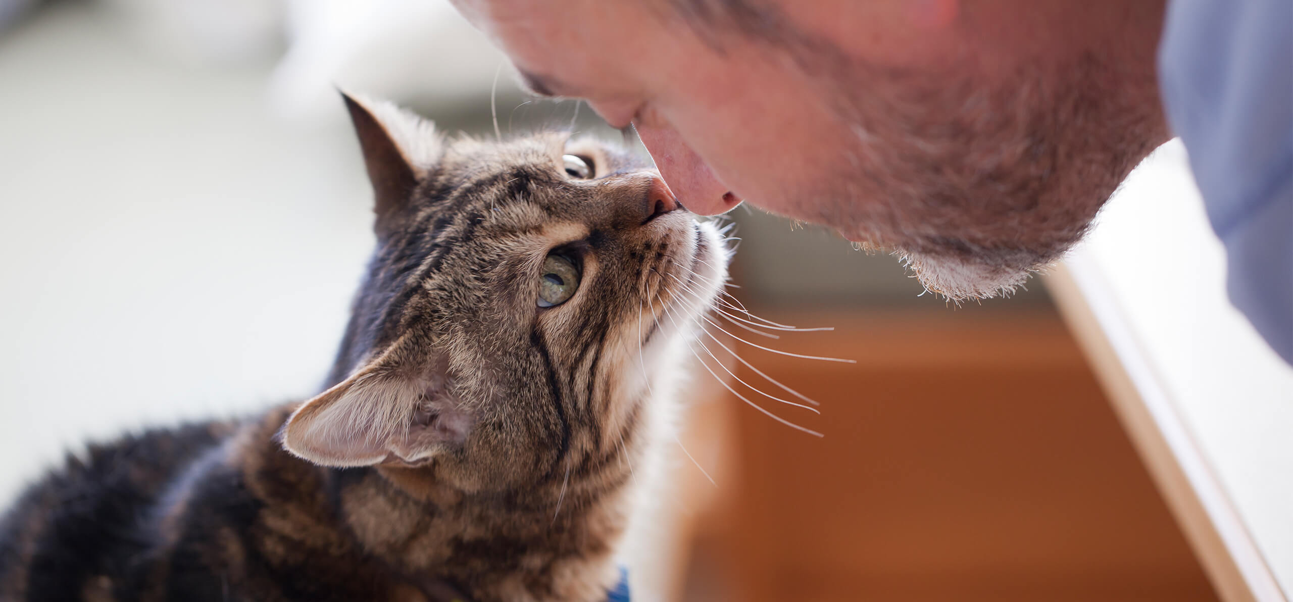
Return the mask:
{"type": "Polygon", "coordinates": [[[345,381],[305,402],[283,447],[325,466],[418,464],[460,447],[475,422],[451,397],[447,369],[402,353],[405,338],[345,381]]]}

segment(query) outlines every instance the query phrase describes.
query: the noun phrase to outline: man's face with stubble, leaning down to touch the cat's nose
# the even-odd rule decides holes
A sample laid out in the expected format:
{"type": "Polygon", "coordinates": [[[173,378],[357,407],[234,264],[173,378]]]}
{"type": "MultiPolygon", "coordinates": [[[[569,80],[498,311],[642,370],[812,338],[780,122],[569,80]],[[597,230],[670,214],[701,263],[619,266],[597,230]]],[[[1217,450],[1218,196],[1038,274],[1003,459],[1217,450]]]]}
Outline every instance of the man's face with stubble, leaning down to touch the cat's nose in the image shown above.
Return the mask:
{"type": "Polygon", "coordinates": [[[535,92],[635,125],[690,211],[834,227],[954,300],[1055,261],[1162,136],[1098,53],[1021,52],[956,1],[773,3],[763,34],[685,1],[455,3],[535,92]]]}

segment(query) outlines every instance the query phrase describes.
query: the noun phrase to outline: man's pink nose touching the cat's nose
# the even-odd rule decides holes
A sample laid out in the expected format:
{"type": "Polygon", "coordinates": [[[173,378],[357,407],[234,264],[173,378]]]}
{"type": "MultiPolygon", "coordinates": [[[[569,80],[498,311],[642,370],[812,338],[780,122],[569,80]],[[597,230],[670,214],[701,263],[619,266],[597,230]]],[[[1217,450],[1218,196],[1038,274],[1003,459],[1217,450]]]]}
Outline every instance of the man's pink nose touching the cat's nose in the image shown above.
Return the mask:
{"type": "Polygon", "coordinates": [[[741,199],[714,177],[705,160],[672,128],[637,128],[637,136],[656,159],[656,168],[668,183],[668,190],[692,213],[716,216],[741,204],[741,199]]]}

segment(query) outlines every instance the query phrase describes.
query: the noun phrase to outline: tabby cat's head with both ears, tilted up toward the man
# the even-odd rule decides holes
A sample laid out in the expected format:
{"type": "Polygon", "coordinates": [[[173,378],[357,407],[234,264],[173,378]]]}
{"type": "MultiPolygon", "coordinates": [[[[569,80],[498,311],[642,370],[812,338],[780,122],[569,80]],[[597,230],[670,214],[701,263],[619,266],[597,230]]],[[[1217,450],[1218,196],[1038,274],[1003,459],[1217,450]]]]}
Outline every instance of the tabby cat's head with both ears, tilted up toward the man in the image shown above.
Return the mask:
{"type": "Polygon", "coordinates": [[[612,146],[446,141],[392,105],[345,102],[378,251],[336,384],[291,416],[284,447],[468,491],[618,474],[653,388],[694,362],[684,338],[727,278],[719,233],[612,146]]]}

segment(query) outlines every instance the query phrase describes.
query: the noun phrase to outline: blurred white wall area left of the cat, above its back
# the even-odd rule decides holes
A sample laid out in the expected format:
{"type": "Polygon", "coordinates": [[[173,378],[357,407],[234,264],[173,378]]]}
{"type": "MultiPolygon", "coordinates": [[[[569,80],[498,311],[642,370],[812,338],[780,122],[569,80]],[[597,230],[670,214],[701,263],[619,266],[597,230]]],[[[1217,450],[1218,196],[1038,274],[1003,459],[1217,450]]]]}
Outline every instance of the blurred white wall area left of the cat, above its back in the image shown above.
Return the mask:
{"type": "MultiPolygon", "coordinates": [[[[371,245],[343,119],[81,6],[0,39],[0,499],[87,437],[310,394],[371,245]]],[[[341,106],[336,107],[341,115],[341,106]]]]}

